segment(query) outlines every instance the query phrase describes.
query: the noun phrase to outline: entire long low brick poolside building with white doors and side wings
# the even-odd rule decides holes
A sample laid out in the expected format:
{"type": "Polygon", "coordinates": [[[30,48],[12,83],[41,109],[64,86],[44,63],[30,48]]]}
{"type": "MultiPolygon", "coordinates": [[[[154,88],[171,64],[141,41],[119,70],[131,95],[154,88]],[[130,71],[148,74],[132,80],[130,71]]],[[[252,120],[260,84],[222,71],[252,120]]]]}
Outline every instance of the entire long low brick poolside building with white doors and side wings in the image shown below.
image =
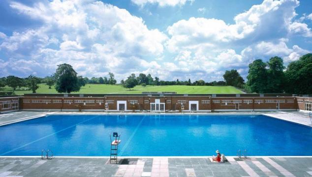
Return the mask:
{"type": "Polygon", "coordinates": [[[296,111],[311,109],[312,98],[289,94],[26,94],[0,98],[0,112],[13,110],[109,112],[296,111]]]}

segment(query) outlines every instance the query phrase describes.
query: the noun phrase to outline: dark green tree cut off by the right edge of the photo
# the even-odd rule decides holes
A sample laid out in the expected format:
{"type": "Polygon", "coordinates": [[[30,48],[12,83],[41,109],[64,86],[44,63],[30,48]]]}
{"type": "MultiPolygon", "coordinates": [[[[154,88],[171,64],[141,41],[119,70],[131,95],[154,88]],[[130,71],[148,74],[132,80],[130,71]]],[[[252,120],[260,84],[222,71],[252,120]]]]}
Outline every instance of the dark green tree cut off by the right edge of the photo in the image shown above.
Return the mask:
{"type": "Polygon", "coordinates": [[[285,90],[293,94],[312,94],[312,53],[288,64],[285,90]]]}

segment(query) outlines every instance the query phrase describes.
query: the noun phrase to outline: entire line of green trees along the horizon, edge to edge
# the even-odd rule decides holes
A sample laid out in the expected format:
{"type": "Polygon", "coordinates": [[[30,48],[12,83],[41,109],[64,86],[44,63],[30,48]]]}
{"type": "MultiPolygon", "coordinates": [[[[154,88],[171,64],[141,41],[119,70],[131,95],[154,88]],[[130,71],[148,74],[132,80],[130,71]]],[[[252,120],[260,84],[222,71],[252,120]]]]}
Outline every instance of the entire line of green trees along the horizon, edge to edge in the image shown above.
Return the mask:
{"type": "MultiPolygon", "coordinates": [[[[249,72],[245,80],[237,70],[225,71],[223,78],[225,81],[205,82],[204,80],[186,81],[164,81],[151,74],[143,73],[139,76],[131,74],[127,79],[121,80],[125,88],[133,88],[136,85],[230,85],[241,88],[248,93],[293,93],[293,94],[312,94],[312,53],[303,55],[298,61],[293,61],[284,67],[283,60],[272,57],[268,62],[256,59],[249,64],[249,72]]],[[[116,84],[117,81],[113,73],[108,73],[108,77],[88,77],[77,76],[77,73],[69,64],[58,65],[54,75],[44,78],[30,75],[26,78],[17,76],[7,76],[0,78],[0,87],[8,85],[13,88],[27,87],[32,93],[38,89],[38,83],[46,83],[49,88],[55,85],[59,93],[77,92],[81,86],[87,83],[93,84],[116,84]]]]}

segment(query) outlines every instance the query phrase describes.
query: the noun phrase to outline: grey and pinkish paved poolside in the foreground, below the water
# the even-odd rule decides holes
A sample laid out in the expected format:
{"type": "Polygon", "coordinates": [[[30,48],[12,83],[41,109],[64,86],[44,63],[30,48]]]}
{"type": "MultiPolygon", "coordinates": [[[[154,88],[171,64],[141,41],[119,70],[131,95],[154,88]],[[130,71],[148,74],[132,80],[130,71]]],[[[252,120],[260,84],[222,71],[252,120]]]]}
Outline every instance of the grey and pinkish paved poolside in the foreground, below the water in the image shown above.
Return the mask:
{"type": "Polygon", "coordinates": [[[310,157],[0,158],[0,177],[312,177],[310,157]]]}

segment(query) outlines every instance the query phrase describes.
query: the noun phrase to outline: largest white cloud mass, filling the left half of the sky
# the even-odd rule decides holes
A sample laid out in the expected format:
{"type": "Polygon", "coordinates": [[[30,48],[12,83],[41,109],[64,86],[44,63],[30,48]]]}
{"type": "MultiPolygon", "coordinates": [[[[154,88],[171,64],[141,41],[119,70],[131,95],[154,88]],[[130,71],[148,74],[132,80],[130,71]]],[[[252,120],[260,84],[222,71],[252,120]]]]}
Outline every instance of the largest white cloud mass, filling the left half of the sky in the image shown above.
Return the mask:
{"type": "Polygon", "coordinates": [[[100,1],[54,0],[33,6],[11,2],[10,6],[43,23],[11,36],[0,33],[0,50],[8,52],[9,70],[15,74],[37,71],[45,76],[64,62],[84,76],[110,71],[129,74],[138,67],[146,68],[141,66],[143,58],[161,56],[167,39],[158,29],[149,29],[141,18],[100,1]],[[23,72],[18,72],[18,67],[23,72]]]}

